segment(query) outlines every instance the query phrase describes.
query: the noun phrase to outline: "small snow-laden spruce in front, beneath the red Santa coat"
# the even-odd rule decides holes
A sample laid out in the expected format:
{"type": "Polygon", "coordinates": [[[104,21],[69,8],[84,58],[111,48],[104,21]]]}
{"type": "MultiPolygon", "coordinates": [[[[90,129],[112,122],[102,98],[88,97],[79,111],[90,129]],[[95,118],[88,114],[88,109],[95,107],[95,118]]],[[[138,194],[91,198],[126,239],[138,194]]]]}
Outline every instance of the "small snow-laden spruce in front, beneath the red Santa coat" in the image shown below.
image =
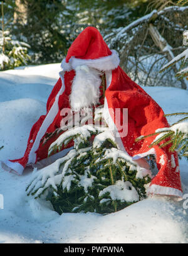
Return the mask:
{"type": "Polygon", "coordinates": [[[74,140],[75,147],[35,172],[26,191],[50,200],[55,211],[112,213],[145,198],[149,175],[136,177],[137,165],[118,150],[108,128],[84,125],[65,131],[50,153],[74,140]],[[95,138],[93,138],[95,135],[95,138]]]}

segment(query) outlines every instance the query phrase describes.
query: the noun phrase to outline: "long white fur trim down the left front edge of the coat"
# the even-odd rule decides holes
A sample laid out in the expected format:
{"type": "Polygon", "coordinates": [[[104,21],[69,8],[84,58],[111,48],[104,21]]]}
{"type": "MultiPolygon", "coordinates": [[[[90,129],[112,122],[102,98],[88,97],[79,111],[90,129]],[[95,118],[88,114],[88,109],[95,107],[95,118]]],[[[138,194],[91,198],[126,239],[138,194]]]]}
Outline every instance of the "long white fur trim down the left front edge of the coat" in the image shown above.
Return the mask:
{"type": "Polygon", "coordinates": [[[33,147],[31,148],[31,151],[29,152],[29,160],[28,164],[35,163],[36,162],[36,150],[38,150],[39,143],[41,141],[41,138],[43,138],[44,134],[46,133],[46,130],[48,127],[53,123],[53,120],[55,119],[56,114],[58,114],[59,106],[58,106],[58,101],[59,97],[63,92],[65,91],[65,83],[64,83],[64,75],[62,72],[60,72],[60,77],[61,77],[61,82],[62,86],[60,91],[55,97],[55,102],[51,106],[50,111],[48,112],[46,118],[44,119],[41,127],[39,128],[39,131],[36,135],[36,139],[34,140],[33,147]]]}

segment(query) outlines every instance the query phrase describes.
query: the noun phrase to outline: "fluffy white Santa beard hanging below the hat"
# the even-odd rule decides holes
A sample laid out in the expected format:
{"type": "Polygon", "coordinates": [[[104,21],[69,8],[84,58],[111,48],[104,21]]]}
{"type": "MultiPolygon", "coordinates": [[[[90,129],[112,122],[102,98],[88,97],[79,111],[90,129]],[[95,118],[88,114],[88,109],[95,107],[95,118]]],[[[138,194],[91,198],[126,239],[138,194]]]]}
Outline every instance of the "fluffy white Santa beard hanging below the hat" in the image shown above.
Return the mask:
{"type": "Polygon", "coordinates": [[[70,106],[73,111],[90,108],[99,103],[101,72],[86,65],[75,69],[76,75],[73,79],[70,94],[70,106]]]}

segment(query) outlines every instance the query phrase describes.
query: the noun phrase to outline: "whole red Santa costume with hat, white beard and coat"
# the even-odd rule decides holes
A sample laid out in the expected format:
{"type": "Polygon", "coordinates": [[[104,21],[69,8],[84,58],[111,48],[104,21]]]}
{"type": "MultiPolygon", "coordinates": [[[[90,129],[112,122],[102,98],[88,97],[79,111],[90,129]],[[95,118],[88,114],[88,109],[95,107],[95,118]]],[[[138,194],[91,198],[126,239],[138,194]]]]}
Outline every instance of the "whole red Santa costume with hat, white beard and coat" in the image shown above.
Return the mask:
{"type": "MultiPolygon", "coordinates": [[[[64,118],[61,110],[64,108],[75,110],[77,107],[81,108],[81,101],[83,104],[84,101],[90,101],[89,94],[86,95],[84,92],[86,88],[88,93],[87,84],[92,94],[96,94],[94,97],[96,102],[92,99],[92,103],[96,104],[98,94],[101,93],[98,77],[100,72],[103,72],[106,91],[105,99],[100,98],[100,104],[104,104],[103,118],[113,131],[118,148],[127,152],[133,160],[142,159],[150,154],[155,155],[159,172],[150,182],[148,193],[182,196],[177,153],[169,152],[170,145],[164,148],[157,145],[149,148],[156,135],[135,142],[138,136],[149,135],[155,133],[158,128],[169,127],[164,111],[152,97],[125,74],[119,62],[117,52],[108,48],[97,28],[85,28],[72,43],[66,58],[61,63],[63,70],[60,72],[60,79],[48,98],[46,114],[41,116],[31,129],[24,156],[21,159],[2,161],[2,167],[21,175],[26,165],[46,159],[48,148],[57,137],[53,136],[44,145],[43,139],[46,134],[52,133],[61,126],[64,118]],[[81,81],[83,77],[85,81],[90,82],[81,81]],[[79,82],[82,84],[81,89],[79,82]],[[73,87],[74,91],[71,92],[73,87]],[[81,94],[85,97],[81,97],[81,94]],[[115,124],[112,113],[115,113],[117,108],[128,109],[127,136],[123,136],[120,131],[122,128],[115,124]]],[[[72,145],[71,142],[66,148],[72,145]]]]}

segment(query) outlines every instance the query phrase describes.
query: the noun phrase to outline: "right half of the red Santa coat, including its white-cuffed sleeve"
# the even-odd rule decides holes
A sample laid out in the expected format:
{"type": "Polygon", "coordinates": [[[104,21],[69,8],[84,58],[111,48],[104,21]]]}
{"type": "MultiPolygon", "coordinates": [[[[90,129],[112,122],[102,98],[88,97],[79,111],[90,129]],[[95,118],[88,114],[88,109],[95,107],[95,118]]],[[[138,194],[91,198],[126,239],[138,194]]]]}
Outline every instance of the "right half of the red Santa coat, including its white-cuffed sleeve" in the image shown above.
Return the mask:
{"type": "MultiPolygon", "coordinates": [[[[158,128],[169,127],[162,108],[120,67],[112,70],[112,72],[107,72],[105,96],[105,119],[109,126],[113,124],[113,116],[110,116],[109,108],[114,110],[115,108],[128,108],[128,133],[127,136],[117,140],[118,147],[127,151],[133,160],[150,154],[156,156],[159,172],[152,179],[147,192],[182,196],[177,153],[169,152],[170,145],[164,148],[157,145],[149,148],[156,135],[139,143],[135,142],[135,138],[138,136],[155,133],[158,128]]],[[[115,128],[120,131],[118,127],[115,128]]]]}

